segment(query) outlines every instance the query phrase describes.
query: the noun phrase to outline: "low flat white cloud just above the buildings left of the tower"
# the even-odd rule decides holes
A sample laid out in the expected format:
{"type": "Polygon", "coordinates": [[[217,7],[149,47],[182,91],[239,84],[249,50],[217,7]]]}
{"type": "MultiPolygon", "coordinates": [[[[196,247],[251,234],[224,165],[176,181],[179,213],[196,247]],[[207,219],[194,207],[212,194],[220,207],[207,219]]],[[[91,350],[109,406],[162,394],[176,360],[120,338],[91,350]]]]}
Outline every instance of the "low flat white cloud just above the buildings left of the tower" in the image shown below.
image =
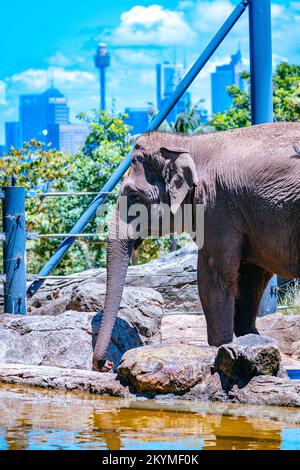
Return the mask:
{"type": "Polygon", "coordinates": [[[20,84],[31,91],[47,88],[52,80],[58,87],[72,87],[92,83],[96,78],[94,74],[82,70],[66,70],[62,67],[51,67],[49,69],[24,70],[9,79],[10,83],[20,84]]]}

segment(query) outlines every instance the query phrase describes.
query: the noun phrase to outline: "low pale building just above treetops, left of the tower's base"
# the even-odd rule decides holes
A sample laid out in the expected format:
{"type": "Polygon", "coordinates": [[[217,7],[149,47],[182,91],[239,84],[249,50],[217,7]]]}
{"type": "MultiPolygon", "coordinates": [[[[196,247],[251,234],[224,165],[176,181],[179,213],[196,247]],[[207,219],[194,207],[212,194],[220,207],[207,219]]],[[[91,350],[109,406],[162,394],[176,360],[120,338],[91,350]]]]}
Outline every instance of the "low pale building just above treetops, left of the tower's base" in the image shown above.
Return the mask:
{"type": "Polygon", "coordinates": [[[53,148],[74,154],[83,147],[89,133],[86,124],[50,124],[47,141],[53,148]]]}

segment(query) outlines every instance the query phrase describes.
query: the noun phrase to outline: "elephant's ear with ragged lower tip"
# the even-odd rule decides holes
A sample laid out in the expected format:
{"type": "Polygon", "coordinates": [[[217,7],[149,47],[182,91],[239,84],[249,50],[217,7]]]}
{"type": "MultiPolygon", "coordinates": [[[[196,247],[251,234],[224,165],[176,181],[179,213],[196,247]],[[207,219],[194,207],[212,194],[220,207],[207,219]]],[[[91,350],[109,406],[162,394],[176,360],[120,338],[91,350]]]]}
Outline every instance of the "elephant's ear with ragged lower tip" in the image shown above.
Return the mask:
{"type": "Polygon", "coordinates": [[[194,160],[188,150],[176,147],[161,147],[166,159],[164,177],[170,196],[171,212],[175,214],[187,193],[198,184],[194,160]]]}

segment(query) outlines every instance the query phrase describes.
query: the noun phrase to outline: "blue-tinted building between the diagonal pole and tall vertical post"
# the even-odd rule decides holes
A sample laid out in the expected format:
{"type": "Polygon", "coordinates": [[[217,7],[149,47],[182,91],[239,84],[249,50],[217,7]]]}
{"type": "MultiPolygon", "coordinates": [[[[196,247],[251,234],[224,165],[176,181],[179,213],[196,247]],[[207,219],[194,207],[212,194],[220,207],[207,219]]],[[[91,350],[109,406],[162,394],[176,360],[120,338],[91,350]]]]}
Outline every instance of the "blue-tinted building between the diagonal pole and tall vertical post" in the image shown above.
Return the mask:
{"type": "Polygon", "coordinates": [[[212,112],[223,113],[232,104],[232,98],[228,95],[226,87],[236,85],[243,89],[243,79],[241,72],[243,70],[241,51],[231,56],[229,64],[219,65],[216,71],[211,74],[211,97],[212,112]]]}

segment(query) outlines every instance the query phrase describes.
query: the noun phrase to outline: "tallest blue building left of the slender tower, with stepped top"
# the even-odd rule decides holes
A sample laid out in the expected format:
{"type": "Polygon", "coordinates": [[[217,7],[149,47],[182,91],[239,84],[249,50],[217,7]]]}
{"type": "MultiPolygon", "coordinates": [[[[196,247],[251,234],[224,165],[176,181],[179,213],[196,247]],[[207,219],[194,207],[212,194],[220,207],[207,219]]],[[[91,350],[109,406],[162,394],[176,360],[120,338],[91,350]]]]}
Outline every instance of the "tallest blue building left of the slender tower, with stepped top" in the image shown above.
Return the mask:
{"type": "Polygon", "coordinates": [[[56,88],[40,95],[21,95],[19,106],[20,141],[47,141],[47,128],[52,124],[69,124],[67,99],[56,88]]]}

